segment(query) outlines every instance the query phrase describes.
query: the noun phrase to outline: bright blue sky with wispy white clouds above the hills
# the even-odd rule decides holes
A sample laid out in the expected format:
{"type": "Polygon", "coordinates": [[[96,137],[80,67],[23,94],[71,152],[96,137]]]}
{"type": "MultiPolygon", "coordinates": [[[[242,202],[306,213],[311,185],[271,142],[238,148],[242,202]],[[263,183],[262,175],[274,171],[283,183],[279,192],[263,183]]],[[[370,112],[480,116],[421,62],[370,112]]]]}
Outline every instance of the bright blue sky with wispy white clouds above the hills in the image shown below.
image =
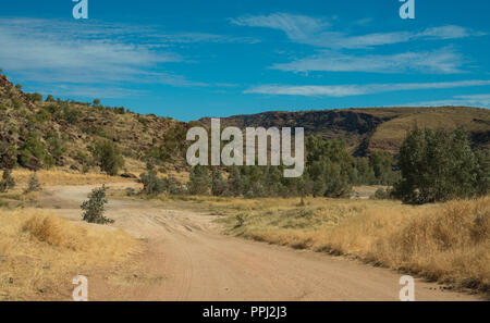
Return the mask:
{"type": "Polygon", "coordinates": [[[271,110],[490,108],[489,1],[2,1],[26,91],[188,121],[271,110]]]}

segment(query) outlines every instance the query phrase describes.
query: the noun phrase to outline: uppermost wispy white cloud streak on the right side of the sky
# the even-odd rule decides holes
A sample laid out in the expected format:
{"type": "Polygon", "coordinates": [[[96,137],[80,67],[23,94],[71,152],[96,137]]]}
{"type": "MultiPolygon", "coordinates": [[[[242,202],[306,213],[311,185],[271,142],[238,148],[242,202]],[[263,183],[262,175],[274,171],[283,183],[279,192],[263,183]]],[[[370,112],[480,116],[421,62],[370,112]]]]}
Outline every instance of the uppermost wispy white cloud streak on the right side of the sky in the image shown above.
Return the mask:
{"type": "Polygon", "coordinates": [[[246,15],[232,18],[231,22],[238,26],[282,30],[291,41],[330,49],[359,49],[407,42],[416,39],[456,39],[485,35],[455,25],[431,27],[421,32],[350,35],[347,33],[332,30],[331,24],[323,18],[289,13],[246,15]]]}

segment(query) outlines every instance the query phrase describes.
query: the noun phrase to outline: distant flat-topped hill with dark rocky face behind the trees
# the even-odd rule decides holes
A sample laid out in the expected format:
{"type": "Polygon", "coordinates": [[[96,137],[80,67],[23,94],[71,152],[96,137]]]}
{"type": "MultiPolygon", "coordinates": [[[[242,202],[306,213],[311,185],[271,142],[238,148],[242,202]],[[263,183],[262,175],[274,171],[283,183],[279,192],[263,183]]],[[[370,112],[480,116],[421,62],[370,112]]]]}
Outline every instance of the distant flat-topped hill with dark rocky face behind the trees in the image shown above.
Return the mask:
{"type": "MultiPolygon", "coordinates": [[[[210,119],[201,119],[206,125],[210,119]]],[[[302,112],[264,112],[221,120],[224,126],[295,127],[306,135],[343,139],[355,156],[381,150],[395,153],[414,125],[452,129],[464,126],[475,147],[490,148],[490,110],[466,107],[366,108],[302,112]]]]}

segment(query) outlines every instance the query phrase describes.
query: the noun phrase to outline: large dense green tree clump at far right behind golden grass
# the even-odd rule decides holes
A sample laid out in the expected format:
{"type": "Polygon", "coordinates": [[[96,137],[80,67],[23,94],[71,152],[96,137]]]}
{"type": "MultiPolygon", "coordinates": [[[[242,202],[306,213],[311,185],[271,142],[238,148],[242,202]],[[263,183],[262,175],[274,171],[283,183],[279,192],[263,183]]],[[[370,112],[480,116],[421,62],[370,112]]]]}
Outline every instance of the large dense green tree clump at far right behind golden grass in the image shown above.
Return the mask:
{"type": "Polygon", "coordinates": [[[469,198],[488,191],[488,154],[476,154],[466,132],[414,128],[400,149],[394,195],[407,203],[469,198]],[[485,174],[487,172],[487,174],[485,174]]]}

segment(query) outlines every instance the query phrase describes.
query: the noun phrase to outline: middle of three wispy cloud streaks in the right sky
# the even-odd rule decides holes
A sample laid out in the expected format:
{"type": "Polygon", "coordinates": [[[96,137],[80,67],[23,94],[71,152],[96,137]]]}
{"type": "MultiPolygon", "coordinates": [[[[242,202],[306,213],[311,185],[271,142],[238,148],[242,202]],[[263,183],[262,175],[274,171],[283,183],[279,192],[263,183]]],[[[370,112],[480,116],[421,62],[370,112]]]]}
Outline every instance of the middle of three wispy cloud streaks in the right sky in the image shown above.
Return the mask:
{"type": "Polygon", "coordinates": [[[299,59],[291,63],[274,64],[272,69],[290,72],[377,72],[377,73],[461,73],[464,59],[452,48],[434,51],[395,54],[352,55],[335,51],[299,59]]]}

